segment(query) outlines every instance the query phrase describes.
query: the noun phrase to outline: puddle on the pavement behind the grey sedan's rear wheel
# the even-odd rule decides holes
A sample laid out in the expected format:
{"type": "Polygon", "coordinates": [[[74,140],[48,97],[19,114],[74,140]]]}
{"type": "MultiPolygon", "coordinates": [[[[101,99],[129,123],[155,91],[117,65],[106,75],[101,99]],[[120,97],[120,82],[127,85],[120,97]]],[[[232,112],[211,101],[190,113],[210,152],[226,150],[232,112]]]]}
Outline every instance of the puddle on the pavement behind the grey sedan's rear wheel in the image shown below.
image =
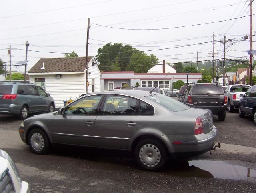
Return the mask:
{"type": "Polygon", "coordinates": [[[193,160],[178,163],[171,161],[169,164],[164,173],[172,176],[256,180],[256,170],[225,161],[193,160]]]}

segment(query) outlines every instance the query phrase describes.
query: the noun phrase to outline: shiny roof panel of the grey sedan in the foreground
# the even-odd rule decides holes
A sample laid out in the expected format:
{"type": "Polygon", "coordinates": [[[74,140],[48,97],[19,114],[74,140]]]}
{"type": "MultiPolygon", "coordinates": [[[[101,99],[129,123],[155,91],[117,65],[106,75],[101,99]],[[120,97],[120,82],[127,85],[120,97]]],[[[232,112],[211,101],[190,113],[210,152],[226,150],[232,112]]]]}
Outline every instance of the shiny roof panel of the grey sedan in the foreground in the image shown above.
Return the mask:
{"type": "MultiPolygon", "coordinates": [[[[95,94],[122,94],[122,95],[128,95],[128,96],[134,96],[134,97],[144,97],[144,96],[149,96],[151,95],[149,91],[145,91],[145,90],[109,90],[109,91],[100,91],[100,92],[94,92],[91,94],[88,94],[86,96],[91,96],[91,95],[95,95],[95,94]]],[[[157,92],[152,92],[153,94],[159,94],[157,92]]]]}

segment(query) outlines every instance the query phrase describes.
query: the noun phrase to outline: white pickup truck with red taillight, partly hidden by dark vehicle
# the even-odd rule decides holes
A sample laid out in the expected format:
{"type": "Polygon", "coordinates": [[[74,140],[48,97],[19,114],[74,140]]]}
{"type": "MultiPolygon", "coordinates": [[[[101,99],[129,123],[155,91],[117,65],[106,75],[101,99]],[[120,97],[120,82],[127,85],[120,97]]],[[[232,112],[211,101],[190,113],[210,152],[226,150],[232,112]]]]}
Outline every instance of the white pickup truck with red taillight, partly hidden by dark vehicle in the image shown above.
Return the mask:
{"type": "Polygon", "coordinates": [[[234,108],[239,107],[239,102],[241,97],[240,94],[245,94],[246,91],[250,88],[250,85],[246,84],[234,84],[229,85],[224,90],[225,96],[228,99],[228,111],[233,112],[234,108]]]}

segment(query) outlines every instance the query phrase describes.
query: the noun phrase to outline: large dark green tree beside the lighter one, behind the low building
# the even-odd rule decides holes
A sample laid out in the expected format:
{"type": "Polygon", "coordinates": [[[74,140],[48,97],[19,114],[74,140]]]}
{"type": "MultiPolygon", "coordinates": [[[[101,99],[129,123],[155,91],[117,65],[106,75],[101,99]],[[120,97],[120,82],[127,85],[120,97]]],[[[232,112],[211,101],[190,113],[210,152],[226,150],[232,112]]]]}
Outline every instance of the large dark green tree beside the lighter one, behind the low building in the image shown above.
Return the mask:
{"type": "Polygon", "coordinates": [[[98,54],[96,55],[100,63],[99,68],[101,71],[113,71],[113,68],[117,67],[114,66],[114,64],[116,64],[116,58],[118,58],[118,65],[124,66],[120,67],[121,71],[124,71],[126,66],[130,63],[130,57],[134,52],[139,52],[139,50],[129,45],[123,46],[121,43],[107,43],[102,48],[98,49],[98,54]],[[112,66],[114,67],[112,68],[112,66]]]}

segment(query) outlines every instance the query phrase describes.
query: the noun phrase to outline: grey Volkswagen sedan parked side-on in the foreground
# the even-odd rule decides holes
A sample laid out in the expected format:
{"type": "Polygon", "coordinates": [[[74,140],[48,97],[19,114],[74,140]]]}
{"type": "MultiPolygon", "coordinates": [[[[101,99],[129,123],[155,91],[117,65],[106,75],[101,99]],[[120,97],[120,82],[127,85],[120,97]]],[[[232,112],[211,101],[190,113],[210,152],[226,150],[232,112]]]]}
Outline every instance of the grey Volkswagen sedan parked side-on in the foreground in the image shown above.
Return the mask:
{"type": "Polygon", "coordinates": [[[212,149],[217,129],[210,110],[154,92],[111,90],[82,96],[58,112],[29,117],[19,133],[36,154],[48,153],[51,143],[123,149],[134,151],[141,167],[156,171],[168,158],[212,149]]]}

